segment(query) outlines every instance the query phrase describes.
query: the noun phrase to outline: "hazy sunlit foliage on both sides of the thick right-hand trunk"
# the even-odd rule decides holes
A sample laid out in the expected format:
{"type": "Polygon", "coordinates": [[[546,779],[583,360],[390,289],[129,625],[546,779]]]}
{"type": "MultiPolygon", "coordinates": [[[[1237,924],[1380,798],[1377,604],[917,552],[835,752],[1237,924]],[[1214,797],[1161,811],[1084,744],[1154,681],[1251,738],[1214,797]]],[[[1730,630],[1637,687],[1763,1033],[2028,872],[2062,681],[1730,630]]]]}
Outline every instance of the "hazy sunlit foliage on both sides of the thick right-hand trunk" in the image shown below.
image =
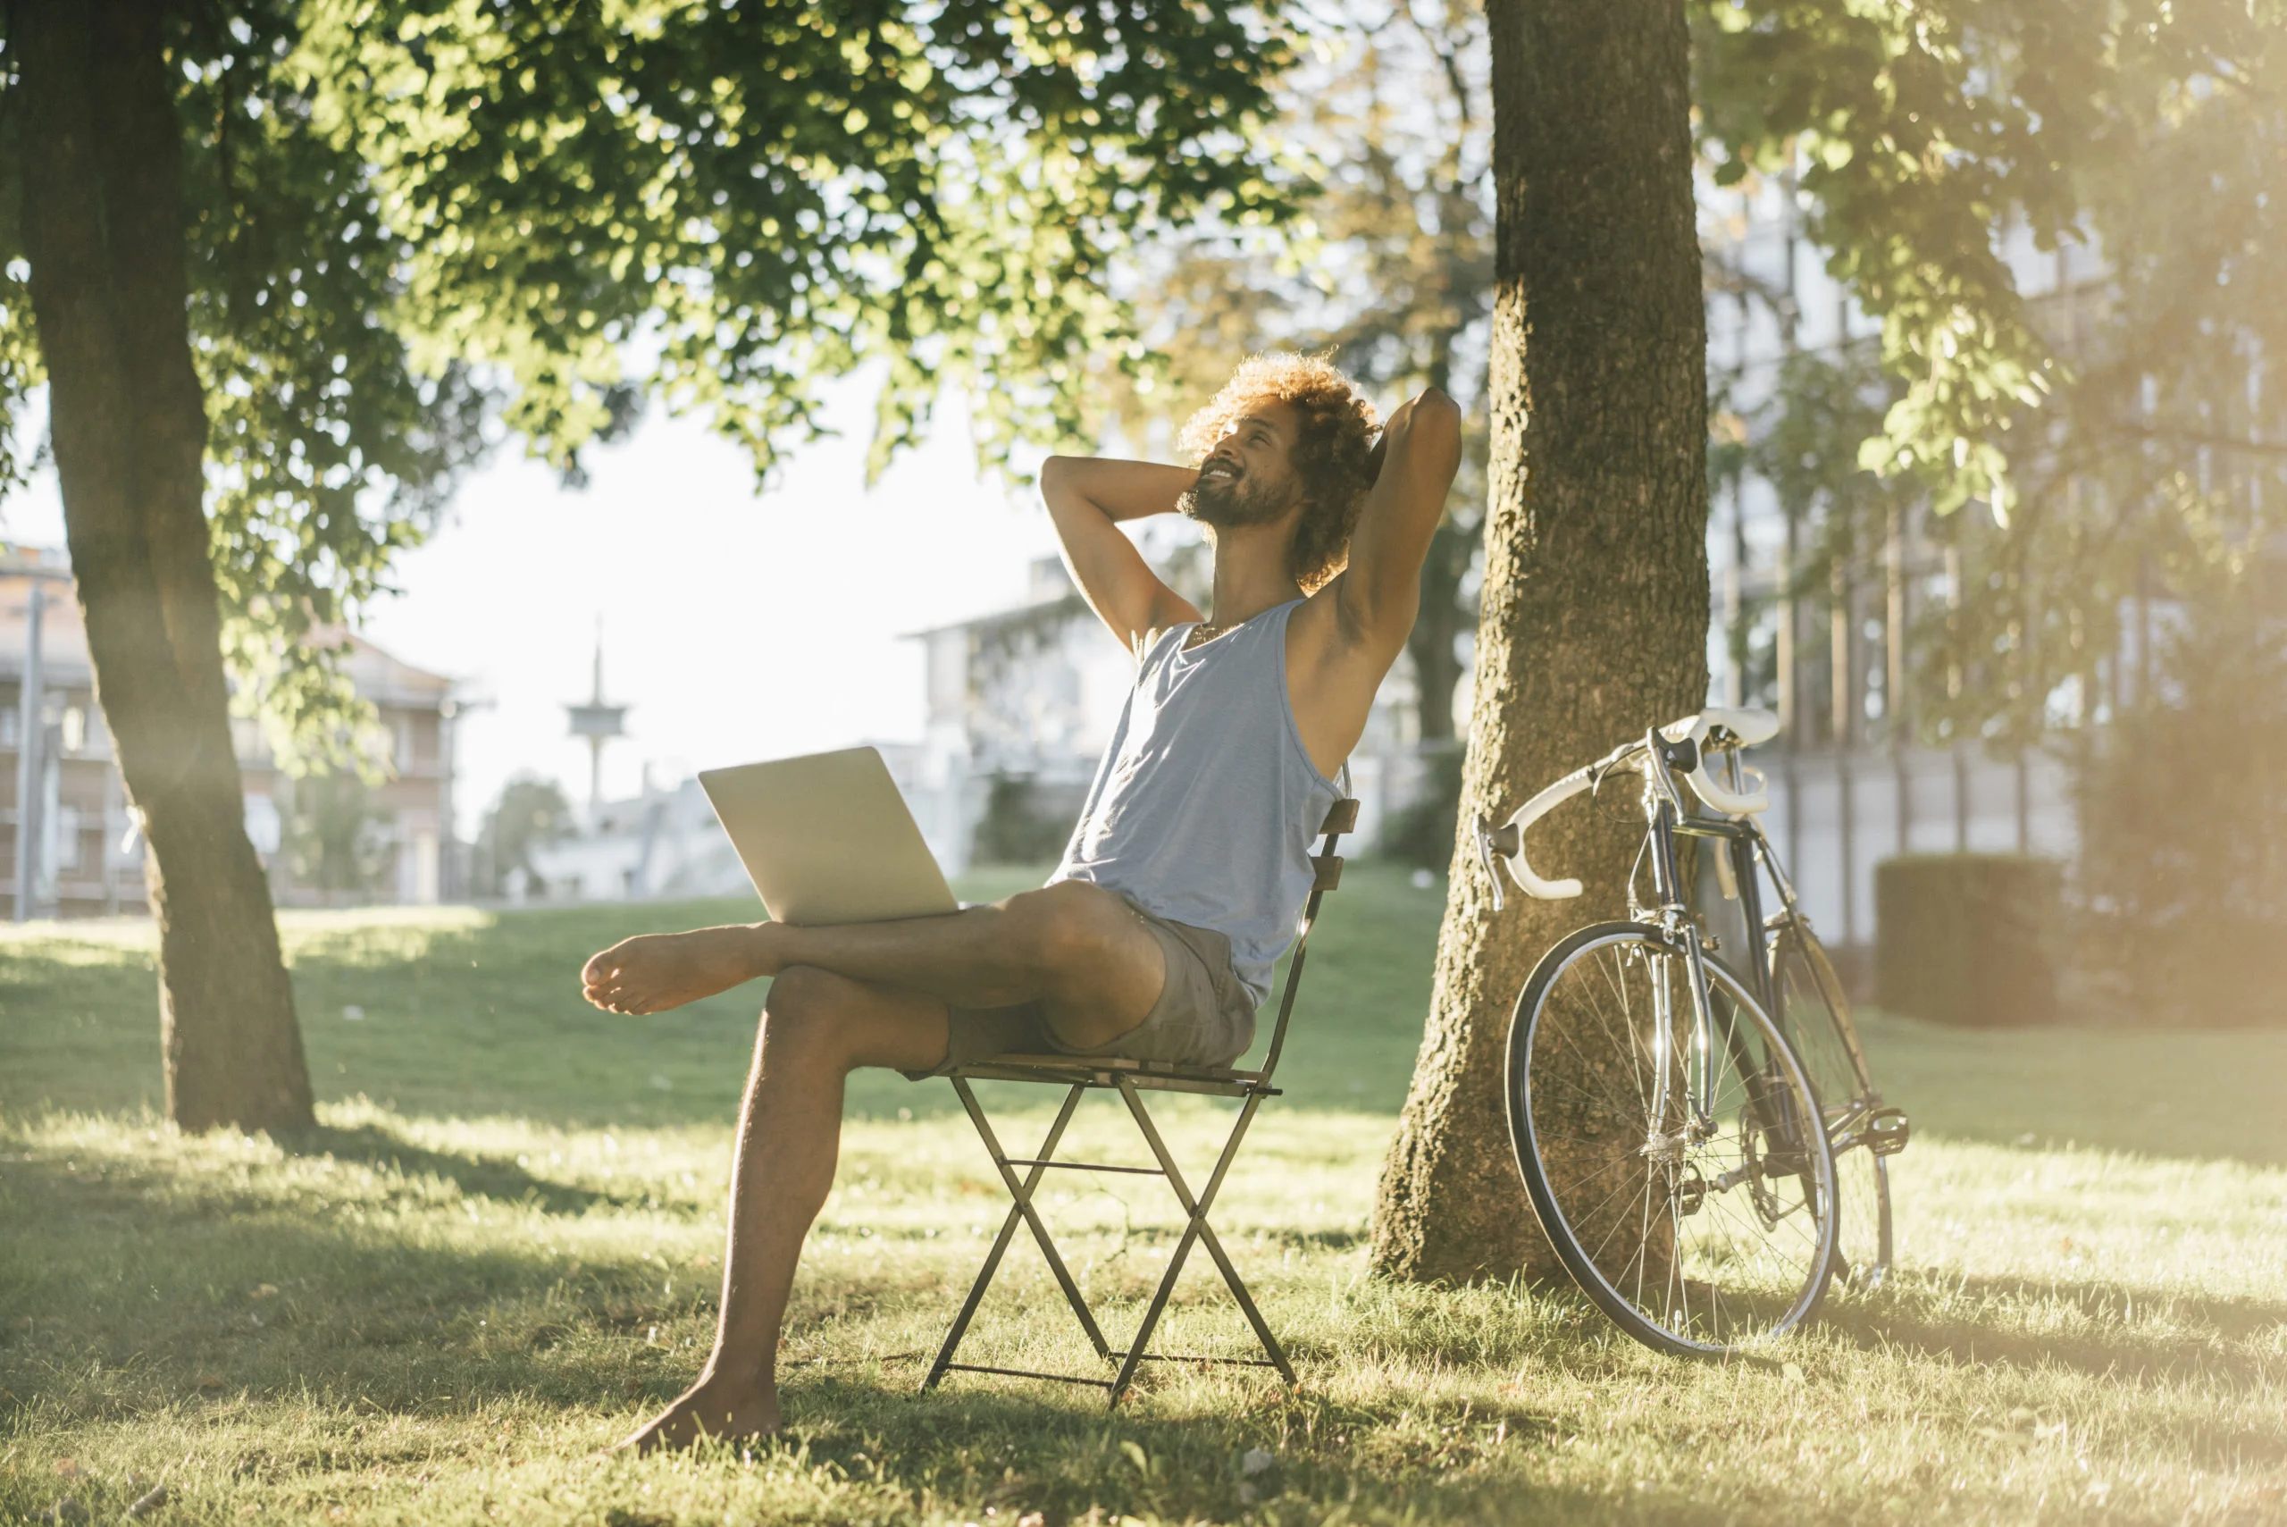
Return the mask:
{"type": "MultiPolygon", "coordinates": [[[[1830,555],[1864,555],[1891,514],[1935,510],[1960,578],[1951,608],[1926,601],[1914,635],[1933,741],[2015,745],[2058,704],[2093,709],[2072,690],[2120,608],[2138,590],[2239,576],[2287,505],[2262,361],[2287,341],[2273,229],[2287,11],[1690,9],[1708,183],[1782,181],[1827,270],[1880,322],[1864,345],[1795,354],[1747,427],[1715,441],[1715,469],[1754,471],[1795,505],[1818,565],[1788,576],[1811,578],[1814,597],[1830,555]],[[2029,254],[2070,258],[2067,290],[2029,297],[2029,254]]],[[[1233,350],[1262,343],[1336,347],[1374,382],[1459,368],[1448,386],[1475,391],[1491,299],[1482,11],[1400,0],[1342,18],[1342,48],[1283,96],[1285,135],[1315,158],[1306,217],[1269,240],[1196,235],[1162,256],[1144,306],[1173,386],[1123,400],[1125,416],[1180,414],[1233,350]]],[[[1445,533],[1455,597],[1475,498],[1466,480],[1445,533]]]]}

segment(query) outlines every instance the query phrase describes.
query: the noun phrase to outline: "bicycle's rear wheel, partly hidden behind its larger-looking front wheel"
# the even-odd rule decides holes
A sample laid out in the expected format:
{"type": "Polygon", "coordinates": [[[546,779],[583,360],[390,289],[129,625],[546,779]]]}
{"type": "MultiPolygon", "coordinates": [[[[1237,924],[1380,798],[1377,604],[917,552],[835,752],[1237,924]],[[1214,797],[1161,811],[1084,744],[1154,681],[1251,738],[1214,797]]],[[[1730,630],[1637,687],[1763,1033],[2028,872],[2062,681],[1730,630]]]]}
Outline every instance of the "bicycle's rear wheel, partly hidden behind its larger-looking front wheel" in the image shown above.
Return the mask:
{"type": "Polygon", "coordinates": [[[1834,1150],[1834,1276],[1855,1289],[1889,1276],[1889,1161],[1873,1145],[1873,1111],[1882,1106],[1866,1070],[1850,1001],[1827,951],[1800,924],[1786,924],[1770,951],[1770,990],[1779,1031],[1811,1074],[1834,1150]]]}

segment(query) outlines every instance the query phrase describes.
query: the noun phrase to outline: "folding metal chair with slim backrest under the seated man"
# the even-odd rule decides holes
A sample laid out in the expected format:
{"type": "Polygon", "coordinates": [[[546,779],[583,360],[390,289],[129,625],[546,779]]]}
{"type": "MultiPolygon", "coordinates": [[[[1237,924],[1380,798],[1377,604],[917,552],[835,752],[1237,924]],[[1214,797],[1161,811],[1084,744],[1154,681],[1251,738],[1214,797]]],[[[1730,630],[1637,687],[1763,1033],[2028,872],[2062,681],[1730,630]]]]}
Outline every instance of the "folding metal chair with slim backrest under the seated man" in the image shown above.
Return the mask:
{"type": "Polygon", "coordinates": [[[1246,1282],[1230,1264],[1230,1255],[1224,1250],[1221,1239],[1217,1239],[1214,1225],[1208,1223],[1208,1212],[1214,1209],[1214,1196],[1224,1189],[1224,1175],[1230,1170],[1230,1161],[1240,1154],[1240,1143],[1246,1138],[1246,1127],[1256,1122],[1256,1111],[1267,1097],[1278,1097],[1278,1088],[1272,1086],[1272,1072],[1278,1070],[1278,1052],[1285,1047],[1288,1017],[1294,1013],[1294,992],[1301,988],[1301,962],[1310,944],[1310,924],[1317,921],[1320,898],[1342,882],[1342,857],[1333,853],[1333,848],[1345,832],[1356,828],[1356,823],[1358,802],[1345,798],[1333,802],[1326,812],[1324,825],[1320,828],[1320,832],[1324,832],[1324,841],[1310,857],[1310,864],[1317,866],[1317,878],[1310,885],[1310,901],[1304,905],[1301,921],[1294,928],[1294,958],[1288,960],[1285,992],[1278,997],[1278,1024],[1272,1029],[1272,1045],[1262,1054],[1262,1070],[1242,1072],[1228,1068],[1185,1068],[1169,1061],[1121,1061],[1102,1056],[988,1056],[951,1072],[954,1090],[961,1095],[961,1106],[970,1111],[970,1122],[977,1125],[977,1134],[993,1154],[993,1166],[999,1168],[1002,1184],[1015,1202],[1009,1207],[1009,1218],[1002,1221],[999,1234],[993,1239],[993,1250],[986,1253],[986,1264],[979,1269],[977,1282],[970,1287],[970,1296],[961,1305],[961,1314],[954,1317],[954,1328],[945,1333],[945,1346],[938,1349],[938,1360],[931,1365],[929,1378],[922,1381],[924,1392],[933,1390],[938,1381],[956,1372],[1006,1374],[1011,1378],[1047,1378],[1054,1383],[1095,1385],[1109,1390],[1109,1404],[1116,1406],[1121,1394],[1125,1394],[1127,1385],[1134,1381],[1137,1367],[1144,1362],[1233,1362],[1240,1367],[1274,1367],[1288,1383],[1294,1383],[1294,1365],[1288,1362],[1285,1349],[1278,1346],[1278,1337],[1274,1337],[1272,1328],[1262,1321],[1262,1312],[1246,1292],[1246,1282]],[[986,1120],[983,1109],[977,1106],[977,1090],[970,1086],[972,1081],[1038,1081],[1068,1088],[1063,1106],[1057,1111],[1057,1122],[1047,1127],[1047,1138],[1041,1141],[1038,1154],[1011,1157],[1002,1150],[990,1120],[986,1120]],[[1073,1122],[1073,1111],[1079,1109],[1079,1100],[1089,1090],[1109,1090],[1121,1095],[1121,1102],[1127,1104],[1127,1113],[1134,1118],[1137,1129],[1144,1134],[1144,1143],[1150,1145],[1150,1154],[1160,1166],[1107,1166],[1098,1161],[1054,1159],[1057,1143],[1063,1138],[1063,1127],[1073,1122]],[[1230,1127],[1230,1138],[1214,1159],[1214,1170],[1208,1173],[1208,1184],[1201,1193],[1194,1196],[1192,1186],[1182,1180],[1176,1157],[1169,1154],[1166,1141],[1160,1138],[1160,1127],[1144,1106],[1144,1093],[1198,1093],[1208,1097],[1244,1100],[1240,1104],[1240,1118],[1230,1127]],[[1018,1177],[1020,1166],[1027,1168],[1022,1177],[1018,1177]],[[1182,1205],[1187,1216],[1182,1237],[1176,1241],[1176,1250],[1166,1260],[1166,1273],[1162,1273],[1160,1287],[1153,1292],[1150,1305],[1144,1310],[1144,1324],[1137,1328],[1137,1335],[1125,1351],[1114,1351],[1111,1342],[1105,1340],[1102,1328],[1095,1324],[1095,1314],[1089,1312],[1089,1301],[1079,1294],[1079,1285],[1073,1280],[1070,1269],[1066,1269],[1063,1257],[1057,1253],[1057,1244],[1050,1239],[1047,1225],[1041,1221],[1041,1212],[1034,1209],[1031,1196],[1041,1186],[1041,1177],[1050,1170],[1166,1177],[1169,1189],[1176,1193],[1176,1202],[1182,1205]],[[1073,1314],[1079,1317],[1079,1328],[1089,1333],[1095,1356],[1105,1362],[1118,1362],[1118,1372],[1111,1378],[1089,1378],[1084,1374],[1036,1374],[1018,1367],[954,1362],[954,1356],[961,1351],[961,1340],[967,1335],[970,1321],[977,1317],[977,1305],[983,1303],[986,1289],[993,1287],[993,1276],[999,1271],[1002,1257],[1015,1239],[1020,1221],[1031,1230],[1031,1239],[1041,1246],[1041,1255],[1047,1260],[1047,1271],[1054,1273],[1066,1303],[1070,1303],[1073,1314]],[[1214,1266],[1221,1269],[1224,1282],[1230,1285],[1230,1296],[1240,1301],[1246,1324],[1256,1328],[1256,1337],[1262,1342],[1267,1360],[1198,1358],[1150,1351],[1150,1335],[1160,1326],[1160,1317],[1166,1312],[1169,1294],[1176,1292],[1176,1278],[1182,1276],[1182,1264],[1192,1255],[1194,1244],[1205,1246],[1208,1255],[1214,1257],[1214,1266]]]}

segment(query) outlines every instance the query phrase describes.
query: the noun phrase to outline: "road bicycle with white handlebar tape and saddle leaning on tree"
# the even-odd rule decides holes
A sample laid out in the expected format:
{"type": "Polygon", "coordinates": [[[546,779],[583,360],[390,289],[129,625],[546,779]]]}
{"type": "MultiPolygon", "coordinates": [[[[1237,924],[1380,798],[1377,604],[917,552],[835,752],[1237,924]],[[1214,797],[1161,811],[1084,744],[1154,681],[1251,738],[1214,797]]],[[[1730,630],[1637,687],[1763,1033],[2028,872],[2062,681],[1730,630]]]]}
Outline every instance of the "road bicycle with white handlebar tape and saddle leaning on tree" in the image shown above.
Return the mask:
{"type": "Polygon", "coordinates": [[[1763,711],[1708,709],[1564,775],[1500,828],[1475,825],[1496,910],[1496,857],[1530,896],[1578,896],[1578,880],[1532,873],[1525,830],[1615,775],[1642,780],[1628,919],[1567,935],[1532,969],[1505,1093],[1557,1257],[1660,1351],[1768,1342],[1807,1321],[1834,1278],[1873,1287],[1891,1262],[1887,1159],[1910,1122],[1873,1088],[1834,967],[1756,821],[1768,796],[1738,754],[1775,734],[1763,711]],[[1708,814],[1690,809],[1679,775],[1708,814]],[[1743,972],[1711,958],[1722,942],[1690,905],[1679,839],[1715,839],[1715,878],[1752,930],[1743,972]],[[1779,901],[1768,917],[1759,871],[1779,901]]]}

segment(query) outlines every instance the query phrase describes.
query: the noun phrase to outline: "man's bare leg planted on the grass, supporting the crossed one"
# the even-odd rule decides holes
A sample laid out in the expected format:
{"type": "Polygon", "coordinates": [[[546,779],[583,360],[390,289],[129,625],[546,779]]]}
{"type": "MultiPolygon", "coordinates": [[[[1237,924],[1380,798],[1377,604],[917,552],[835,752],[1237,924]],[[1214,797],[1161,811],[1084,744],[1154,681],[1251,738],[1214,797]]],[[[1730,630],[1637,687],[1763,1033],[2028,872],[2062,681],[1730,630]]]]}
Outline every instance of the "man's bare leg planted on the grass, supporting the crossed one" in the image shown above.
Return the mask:
{"type": "Polygon", "coordinates": [[[835,1184],[842,1084],[858,1065],[929,1070],[945,1004],[814,967],[778,976],[739,1116],[723,1253],[723,1312],[707,1367],[620,1447],[652,1452],[778,1429],[778,1333],[803,1237],[835,1184]]]}

